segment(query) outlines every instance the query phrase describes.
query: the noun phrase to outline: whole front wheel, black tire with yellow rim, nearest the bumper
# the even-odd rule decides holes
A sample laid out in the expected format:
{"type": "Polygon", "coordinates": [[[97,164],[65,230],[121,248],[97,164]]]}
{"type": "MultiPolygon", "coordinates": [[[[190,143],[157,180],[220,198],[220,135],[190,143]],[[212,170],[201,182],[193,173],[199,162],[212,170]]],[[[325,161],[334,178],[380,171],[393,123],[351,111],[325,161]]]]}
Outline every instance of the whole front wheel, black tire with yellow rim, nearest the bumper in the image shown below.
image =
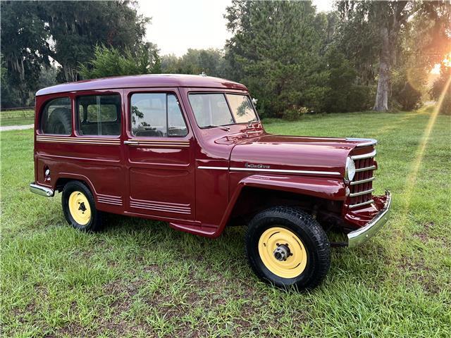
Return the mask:
{"type": "Polygon", "coordinates": [[[308,213],[275,207],[257,214],[245,237],[249,264],[277,287],[312,289],[330,268],[327,235],[308,213]]]}

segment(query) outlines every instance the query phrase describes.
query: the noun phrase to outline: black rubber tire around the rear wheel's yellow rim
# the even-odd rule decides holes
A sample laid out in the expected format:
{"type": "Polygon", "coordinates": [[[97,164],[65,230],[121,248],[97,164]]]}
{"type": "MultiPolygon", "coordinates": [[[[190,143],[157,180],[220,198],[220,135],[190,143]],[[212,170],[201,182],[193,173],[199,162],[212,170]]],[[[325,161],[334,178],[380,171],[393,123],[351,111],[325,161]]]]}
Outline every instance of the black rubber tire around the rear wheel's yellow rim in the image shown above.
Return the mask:
{"type": "MultiPolygon", "coordinates": [[[[68,182],[63,189],[63,194],[61,196],[61,204],[63,206],[63,213],[66,217],[66,220],[70,225],[75,227],[75,229],[84,231],[84,232],[97,232],[102,229],[102,221],[104,219],[104,213],[98,211],[96,209],[94,196],[92,196],[92,192],[86,186],[86,184],[80,181],[70,181],[68,182]],[[87,203],[89,203],[89,211],[90,217],[86,224],[80,224],[75,220],[76,216],[72,215],[69,207],[69,199],[73,193],[81,193],[87,199],[87,203]],[[75,217],[75,218],[74,218],[75,217]]],[[[81,207],[81,206],[80,206],[81,207]]],[[[86,208],[86,206],[84,206],[86,208]]]]}

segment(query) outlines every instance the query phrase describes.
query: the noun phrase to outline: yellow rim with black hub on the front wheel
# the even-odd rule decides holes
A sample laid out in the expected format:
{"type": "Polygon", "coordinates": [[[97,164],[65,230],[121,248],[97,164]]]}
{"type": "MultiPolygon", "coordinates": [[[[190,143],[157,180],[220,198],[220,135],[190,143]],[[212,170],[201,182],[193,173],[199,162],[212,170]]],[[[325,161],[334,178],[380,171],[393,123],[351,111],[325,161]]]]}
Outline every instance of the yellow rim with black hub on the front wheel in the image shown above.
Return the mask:
{"type": "Polygon", "coordinates": [[[266,268],[278,277],[297,277],[307,265],[304,244],[294,232],[283,227],[271,227],[261,234],[259,255],[266,268]]]}

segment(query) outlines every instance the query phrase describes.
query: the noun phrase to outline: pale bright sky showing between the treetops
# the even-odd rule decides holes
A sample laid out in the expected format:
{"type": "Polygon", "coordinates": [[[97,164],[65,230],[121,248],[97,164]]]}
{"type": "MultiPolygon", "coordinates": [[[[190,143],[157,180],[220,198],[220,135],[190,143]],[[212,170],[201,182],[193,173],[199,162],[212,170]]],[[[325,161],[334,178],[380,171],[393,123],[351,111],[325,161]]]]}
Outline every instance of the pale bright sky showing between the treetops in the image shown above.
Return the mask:
{"type": "MultiPolygon", "coordinates": [[[[182,56],[188,48],[222,49],[230,33],[226,29],[226,7],[231,0],[138,0],[138,12],[152,17],[146,40],[160,54],[182,56]]],[[[314,0],[318,11],[330,11],[332,0],[314,0]]]]}

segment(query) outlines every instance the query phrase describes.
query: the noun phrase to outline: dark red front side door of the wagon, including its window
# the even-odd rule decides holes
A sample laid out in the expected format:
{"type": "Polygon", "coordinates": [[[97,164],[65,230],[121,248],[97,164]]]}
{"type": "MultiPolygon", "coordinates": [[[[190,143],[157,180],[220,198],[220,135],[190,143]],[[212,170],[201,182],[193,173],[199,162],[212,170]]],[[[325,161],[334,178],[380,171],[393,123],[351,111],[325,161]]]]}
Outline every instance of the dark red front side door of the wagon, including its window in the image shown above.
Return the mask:
{"type": "Polygon", "coordinates": [[[126,91],[128,211],[194,220],[192,132],[178,91],[126,91]]]}

